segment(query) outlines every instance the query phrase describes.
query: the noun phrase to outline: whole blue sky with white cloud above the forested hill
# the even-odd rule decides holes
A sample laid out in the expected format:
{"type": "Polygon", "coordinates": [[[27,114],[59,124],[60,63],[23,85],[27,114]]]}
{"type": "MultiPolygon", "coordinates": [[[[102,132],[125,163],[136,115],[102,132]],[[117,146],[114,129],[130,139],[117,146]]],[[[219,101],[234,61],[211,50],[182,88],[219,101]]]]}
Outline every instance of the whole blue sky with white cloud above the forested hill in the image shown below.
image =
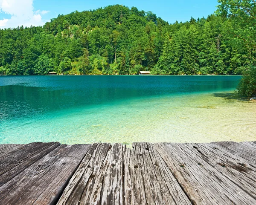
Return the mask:
{"type": "Polygon", "coordinates": [[[0,0],[0,28],[43,26],[58,14],[93,10],[108,5],[135,6],[151,11],[169,23],[207,17],[216,10],[217,0],[0,0]]]}

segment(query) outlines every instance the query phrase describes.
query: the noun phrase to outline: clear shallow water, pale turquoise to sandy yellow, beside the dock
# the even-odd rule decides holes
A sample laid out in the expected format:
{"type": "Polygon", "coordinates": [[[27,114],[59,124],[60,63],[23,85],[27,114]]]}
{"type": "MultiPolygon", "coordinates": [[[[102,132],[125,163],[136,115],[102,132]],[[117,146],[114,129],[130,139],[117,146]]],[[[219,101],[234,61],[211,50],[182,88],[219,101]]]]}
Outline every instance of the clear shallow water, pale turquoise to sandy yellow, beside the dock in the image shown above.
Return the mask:
{"type": "Polygon", "coordinates": [[[0,143],[255,141],[256,104],[212,94],[140,98],[3,121],[0,143]]]}

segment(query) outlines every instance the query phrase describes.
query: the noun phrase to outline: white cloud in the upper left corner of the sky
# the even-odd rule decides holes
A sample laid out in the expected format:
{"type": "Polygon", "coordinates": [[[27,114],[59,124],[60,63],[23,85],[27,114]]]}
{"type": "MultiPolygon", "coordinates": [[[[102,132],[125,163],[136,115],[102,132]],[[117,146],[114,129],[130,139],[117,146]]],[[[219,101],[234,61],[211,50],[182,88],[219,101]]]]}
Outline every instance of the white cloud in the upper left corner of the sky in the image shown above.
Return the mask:
{"type": "Polygon", "coordinates": [[[49,11],[34,11],[33,0],[0,0],[0,12],[11,15],[9,19],[0,20],[0,27],[16,28],[44,25],[46,20],[42,20],[42,15],[49,11]]]}

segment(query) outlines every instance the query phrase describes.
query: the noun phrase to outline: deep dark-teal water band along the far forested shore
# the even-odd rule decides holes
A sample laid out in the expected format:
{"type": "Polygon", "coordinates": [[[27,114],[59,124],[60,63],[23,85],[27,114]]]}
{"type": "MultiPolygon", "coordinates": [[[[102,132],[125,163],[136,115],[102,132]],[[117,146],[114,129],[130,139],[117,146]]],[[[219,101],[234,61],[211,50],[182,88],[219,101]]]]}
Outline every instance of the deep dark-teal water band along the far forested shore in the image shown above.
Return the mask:
{"type": "Polygon", "coordinates": [[[133,98],[234,89],[239,76],[3,76],[0,121],[133,98]]]}

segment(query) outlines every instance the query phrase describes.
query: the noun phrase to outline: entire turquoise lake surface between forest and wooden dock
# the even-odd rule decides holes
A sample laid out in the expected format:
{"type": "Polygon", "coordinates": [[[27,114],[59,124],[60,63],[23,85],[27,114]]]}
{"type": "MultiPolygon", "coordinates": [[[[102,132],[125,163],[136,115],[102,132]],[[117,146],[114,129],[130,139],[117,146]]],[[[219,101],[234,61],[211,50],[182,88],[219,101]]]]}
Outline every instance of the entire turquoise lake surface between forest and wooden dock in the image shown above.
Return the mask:
{"type": "Polygon", "coordinates": [[[241,76],[0,76],[0,144],[255,141],[241,76]]]}

